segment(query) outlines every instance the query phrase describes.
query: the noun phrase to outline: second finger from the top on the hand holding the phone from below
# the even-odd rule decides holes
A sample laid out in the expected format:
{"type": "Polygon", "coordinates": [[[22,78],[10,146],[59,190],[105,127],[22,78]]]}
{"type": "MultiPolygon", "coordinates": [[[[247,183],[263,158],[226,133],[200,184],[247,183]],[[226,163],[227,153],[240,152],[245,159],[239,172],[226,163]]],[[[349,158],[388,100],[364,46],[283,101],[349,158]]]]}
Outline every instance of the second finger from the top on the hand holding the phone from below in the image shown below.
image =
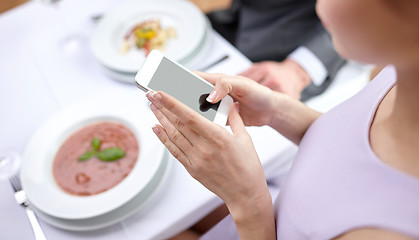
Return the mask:
{"type": "Polygon", "coordinates": [[[159,120],[160,124],[165,129],[165,132],[167,133],[170,141],[186,153],[192,147],[191,142],[189,142],[189,140],[176,129],[172,122],[170,122],[167,116],[164,115],[156,105],[153,103],[150,104],[150,109],[153,111],[157,120],[159,120]]]}

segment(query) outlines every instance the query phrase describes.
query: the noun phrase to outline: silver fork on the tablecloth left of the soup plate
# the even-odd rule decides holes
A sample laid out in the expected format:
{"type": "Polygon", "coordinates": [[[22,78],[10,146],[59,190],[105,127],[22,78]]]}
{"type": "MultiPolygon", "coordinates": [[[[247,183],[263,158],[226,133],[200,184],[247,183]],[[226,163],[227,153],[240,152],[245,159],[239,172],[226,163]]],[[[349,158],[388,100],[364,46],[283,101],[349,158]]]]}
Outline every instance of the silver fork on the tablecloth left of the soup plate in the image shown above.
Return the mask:
{"type": "Polygon", "coordinates": [[[22,190],[22,186],[20,184],[20,180],[17,174],[11,176],[9,178],[10,184],[15,191],[15,199],[16,202],[23,206],[26,210],[26,215],[29,218],[29,222],[31,223],[33,233],[35,235],[36,240],[46,240],[45,234],[42,231],[41,225],[39,225],[38,218],[36,217],[35,213],[29,206],[29,202],[26,198],[26,193],[22,190]]]}

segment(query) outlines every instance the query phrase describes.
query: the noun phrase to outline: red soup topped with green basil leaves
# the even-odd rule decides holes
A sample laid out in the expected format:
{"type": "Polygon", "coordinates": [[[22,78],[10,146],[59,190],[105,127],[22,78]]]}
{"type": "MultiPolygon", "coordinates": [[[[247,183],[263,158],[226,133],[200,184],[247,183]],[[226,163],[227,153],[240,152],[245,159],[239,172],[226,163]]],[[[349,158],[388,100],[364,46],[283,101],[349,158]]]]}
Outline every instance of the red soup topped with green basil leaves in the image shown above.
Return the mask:
{"type": "Polygon", "coordinates": [[[65,192],[88,196],[120,183],[139,155],[135,135],[126,126],[100,122],[71,135],[58,149],[52,173],[65,192]]]}

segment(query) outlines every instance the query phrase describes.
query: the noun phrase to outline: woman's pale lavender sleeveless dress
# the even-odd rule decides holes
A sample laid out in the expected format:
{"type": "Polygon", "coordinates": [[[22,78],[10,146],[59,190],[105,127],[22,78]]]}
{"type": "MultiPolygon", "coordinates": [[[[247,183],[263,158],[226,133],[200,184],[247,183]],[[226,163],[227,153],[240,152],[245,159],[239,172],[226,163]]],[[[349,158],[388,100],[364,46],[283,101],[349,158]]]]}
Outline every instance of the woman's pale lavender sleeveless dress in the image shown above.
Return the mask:
{"type": "MultiPolygon", "coordinates": [[[[419,238],[419,179],[382,162],[369,142],[377,107],[395,82],[394,67],[386,67],[307,130],[275,195],[278,239],[325,240],[357,228],[419,238]]],[[[238,233],[228,216],[202,239],[238,233]]]]}

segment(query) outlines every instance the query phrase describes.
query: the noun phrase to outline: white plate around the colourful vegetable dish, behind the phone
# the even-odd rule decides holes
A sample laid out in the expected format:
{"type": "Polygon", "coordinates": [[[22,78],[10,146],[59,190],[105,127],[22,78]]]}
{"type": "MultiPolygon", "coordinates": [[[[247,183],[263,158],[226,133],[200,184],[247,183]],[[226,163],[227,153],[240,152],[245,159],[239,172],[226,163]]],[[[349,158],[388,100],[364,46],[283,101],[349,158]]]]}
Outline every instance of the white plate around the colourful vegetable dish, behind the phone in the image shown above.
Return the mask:
{"type": "Polygon", "coordinates": [[[163,28],[174,27],[176,38],[166,43],[164,54],[176,61],[190,58],[204,39],[206,22],[203,13],[185,0],[131,1],[108,12],[98,23],[91,40],[96,59],[104,66],[136,73],[145,59],[144,51],[121,53],[124,36],[136,24],[160,19],[163,28]]]}

